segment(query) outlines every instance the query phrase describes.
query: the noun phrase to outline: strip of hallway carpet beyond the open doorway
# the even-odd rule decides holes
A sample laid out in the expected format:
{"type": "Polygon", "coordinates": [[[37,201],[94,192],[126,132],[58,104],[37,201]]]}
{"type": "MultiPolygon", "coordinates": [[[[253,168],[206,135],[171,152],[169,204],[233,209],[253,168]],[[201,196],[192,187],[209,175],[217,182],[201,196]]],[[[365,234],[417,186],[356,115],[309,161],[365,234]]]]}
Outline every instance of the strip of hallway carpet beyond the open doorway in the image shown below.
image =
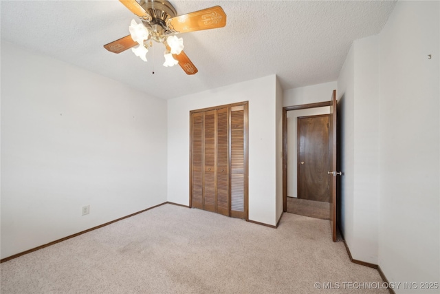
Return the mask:
{"type": "Polygon", "coordinates": [[[287,197],[287,212],[289,213],[329,220],[329,209],[328,202],[287,197]]]}

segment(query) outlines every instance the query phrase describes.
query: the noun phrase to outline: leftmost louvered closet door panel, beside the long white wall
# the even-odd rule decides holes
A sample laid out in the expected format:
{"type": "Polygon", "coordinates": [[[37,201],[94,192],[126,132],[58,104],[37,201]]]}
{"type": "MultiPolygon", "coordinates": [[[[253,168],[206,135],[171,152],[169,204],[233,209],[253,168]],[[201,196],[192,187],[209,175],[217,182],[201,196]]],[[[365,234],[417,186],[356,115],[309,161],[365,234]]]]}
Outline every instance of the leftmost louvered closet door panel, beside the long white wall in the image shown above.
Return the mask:
{"type": "Polygon", "coordinates": [[[203,112],[191,116],[191,206],[203,209],[203,112]]]}

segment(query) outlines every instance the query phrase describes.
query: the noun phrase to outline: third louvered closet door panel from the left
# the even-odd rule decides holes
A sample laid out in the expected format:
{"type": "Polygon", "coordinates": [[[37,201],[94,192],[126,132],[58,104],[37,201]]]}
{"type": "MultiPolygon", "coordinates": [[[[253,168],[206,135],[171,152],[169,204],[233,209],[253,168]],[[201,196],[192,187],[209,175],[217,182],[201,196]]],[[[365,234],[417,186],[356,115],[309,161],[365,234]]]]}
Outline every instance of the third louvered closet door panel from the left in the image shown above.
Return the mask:
{"type": "Polygon", "coordinates": [[[229,108],[217,110],[217,213],[229,216],[229,108]]]}

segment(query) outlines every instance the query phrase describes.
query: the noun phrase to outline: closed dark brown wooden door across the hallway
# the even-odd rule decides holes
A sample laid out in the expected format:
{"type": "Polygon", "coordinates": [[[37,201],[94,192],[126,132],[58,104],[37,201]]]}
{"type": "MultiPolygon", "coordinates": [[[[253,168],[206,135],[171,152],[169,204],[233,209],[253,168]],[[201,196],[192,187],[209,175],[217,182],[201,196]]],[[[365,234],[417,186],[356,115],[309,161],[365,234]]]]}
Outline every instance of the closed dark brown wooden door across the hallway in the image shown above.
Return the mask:
{"type": "Polygon", "coordinates": [[[298,117],[298,198],[329,202],[329,114],[298,117]]]}

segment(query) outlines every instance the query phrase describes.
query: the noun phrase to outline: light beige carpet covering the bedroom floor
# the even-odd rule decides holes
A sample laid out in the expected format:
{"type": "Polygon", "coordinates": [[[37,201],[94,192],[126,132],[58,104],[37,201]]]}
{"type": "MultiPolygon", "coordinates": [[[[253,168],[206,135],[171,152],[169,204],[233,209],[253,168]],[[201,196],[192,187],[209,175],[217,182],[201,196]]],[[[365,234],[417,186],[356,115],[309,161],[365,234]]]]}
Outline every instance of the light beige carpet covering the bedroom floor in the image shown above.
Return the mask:
{"type": "Polygon", "coordinates": [[[1,264],[4,294],[388,293],[344,282],[382,279],[350,262],[328,220],[285,213],[271,229],[172,204],[1,264]]]}

